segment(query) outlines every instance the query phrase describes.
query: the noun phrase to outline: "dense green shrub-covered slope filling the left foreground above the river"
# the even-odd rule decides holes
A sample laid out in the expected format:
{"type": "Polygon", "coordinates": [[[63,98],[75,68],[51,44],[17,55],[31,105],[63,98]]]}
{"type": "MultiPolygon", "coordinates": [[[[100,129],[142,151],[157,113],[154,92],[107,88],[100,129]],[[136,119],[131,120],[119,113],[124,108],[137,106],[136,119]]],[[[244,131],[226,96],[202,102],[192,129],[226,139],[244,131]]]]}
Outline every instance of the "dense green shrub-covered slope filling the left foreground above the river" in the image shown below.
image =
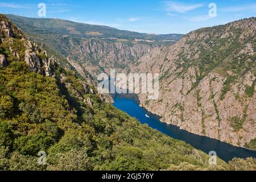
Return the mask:
{"type": "MultiPolygon", "coordinates": [[[[61,69],[55,78],[38,75],[22,61],[0,68],[0,169],[208,168],[206,154],[141,125],[81,82],[61,69]],[[46,166],[37,163],[39,151],[46,166]]],[[[221,160],[218,167],[227,168],[221,160]]]]}

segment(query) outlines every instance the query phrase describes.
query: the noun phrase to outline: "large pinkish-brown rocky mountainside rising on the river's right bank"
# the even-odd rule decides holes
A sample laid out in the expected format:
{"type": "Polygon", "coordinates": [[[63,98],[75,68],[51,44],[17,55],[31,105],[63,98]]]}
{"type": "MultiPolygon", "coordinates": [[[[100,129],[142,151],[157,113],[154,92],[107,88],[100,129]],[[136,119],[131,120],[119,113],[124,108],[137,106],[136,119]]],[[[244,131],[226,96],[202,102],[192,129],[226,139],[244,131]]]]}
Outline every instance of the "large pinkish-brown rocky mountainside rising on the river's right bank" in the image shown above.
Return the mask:
{"type": "Polygon", "coordinates": [[[156,101],[139,94],[142,106],[191,133],[250,143],[256,138],[255,30],[255,18],[201,28],[144,55],[131,72],[160,73],[160,94],[156,101]]]}

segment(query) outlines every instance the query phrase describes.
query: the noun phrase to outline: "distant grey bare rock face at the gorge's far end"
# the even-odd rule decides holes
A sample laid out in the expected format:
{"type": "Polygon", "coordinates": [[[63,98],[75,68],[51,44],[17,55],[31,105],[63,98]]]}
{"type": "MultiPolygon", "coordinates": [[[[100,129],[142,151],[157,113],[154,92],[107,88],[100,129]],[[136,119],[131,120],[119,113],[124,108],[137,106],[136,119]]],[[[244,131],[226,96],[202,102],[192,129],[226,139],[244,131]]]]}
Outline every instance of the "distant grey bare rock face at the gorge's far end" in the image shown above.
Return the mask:
{"type": "Polygon", "coordinates": [[[72,38],[62,46],[69,54],[72,65],[88,70],[90,74],[97,77],[99,73],[109,73],[110,68],[116,71],[127,71],[129,64],[136,63],[143,55],[156,47],[147,44],[134,44],[129,46],[125,43],[110,43],[104,40],[88,39],[77,42],[72,38]]]}

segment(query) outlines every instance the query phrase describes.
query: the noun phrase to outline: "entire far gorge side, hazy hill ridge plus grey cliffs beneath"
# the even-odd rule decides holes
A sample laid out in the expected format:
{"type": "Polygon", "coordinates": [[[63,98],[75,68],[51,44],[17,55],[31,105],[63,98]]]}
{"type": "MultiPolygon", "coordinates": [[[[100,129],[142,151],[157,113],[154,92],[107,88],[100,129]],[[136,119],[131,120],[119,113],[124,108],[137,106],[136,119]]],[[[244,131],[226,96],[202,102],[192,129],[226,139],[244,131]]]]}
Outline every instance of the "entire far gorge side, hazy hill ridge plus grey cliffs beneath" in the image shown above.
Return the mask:
{"type": "Polygon", "coordinates": [[[93,77],[108,72],[110,68],[129,71],[146,53],[172,44],[181,34],[142,34],[106,26],[76,23],[61,19],[8,17],[25,34],[47,52],[65,57],[80,73],[86,69],[93,77]],[[52,52],[54,50],[54,53],[52,52]]]}

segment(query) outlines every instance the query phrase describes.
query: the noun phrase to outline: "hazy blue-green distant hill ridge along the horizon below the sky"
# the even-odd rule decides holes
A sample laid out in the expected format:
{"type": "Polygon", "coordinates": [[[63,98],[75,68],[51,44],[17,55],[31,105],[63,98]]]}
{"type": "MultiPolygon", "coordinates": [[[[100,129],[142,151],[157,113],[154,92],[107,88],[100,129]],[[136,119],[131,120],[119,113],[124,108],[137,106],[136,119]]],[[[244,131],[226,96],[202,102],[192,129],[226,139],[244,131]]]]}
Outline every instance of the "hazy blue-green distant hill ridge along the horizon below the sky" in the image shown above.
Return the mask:
{"type": "MultiPolygon", "coordinates": [[[[118,30],[108,26],[92,25],[71,22],[69,20],[49,19],[49,18],[26,18],[23,16],[7,15],[18,27],[26,32],[52,32],[55,34],[67,34],[79,36],[82,38],[101,38],[107,40],[127,39],[133,41],[135,39],[143,39],[142,42],[155,40],[155,43],[179,40],[182,34],[143,34],[133,31],[118,30]],[[117,38],[117,39],[114,39],[117,38]]],[[[162,43],[162,44],[163,44],[162,43]]]]}

